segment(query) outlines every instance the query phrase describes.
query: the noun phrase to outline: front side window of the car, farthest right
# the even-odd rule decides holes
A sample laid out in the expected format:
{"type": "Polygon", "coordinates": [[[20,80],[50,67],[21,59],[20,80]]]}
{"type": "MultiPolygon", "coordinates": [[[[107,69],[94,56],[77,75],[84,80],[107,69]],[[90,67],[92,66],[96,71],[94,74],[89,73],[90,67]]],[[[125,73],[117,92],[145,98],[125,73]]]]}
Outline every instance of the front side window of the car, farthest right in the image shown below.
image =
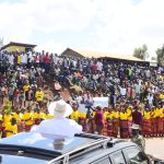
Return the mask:
{"type": "Polygon", "coordinates": [[[124,153],[126,153],[129,164],[149,164],[147,155],[137,148],[125,149],[124,153]]]}

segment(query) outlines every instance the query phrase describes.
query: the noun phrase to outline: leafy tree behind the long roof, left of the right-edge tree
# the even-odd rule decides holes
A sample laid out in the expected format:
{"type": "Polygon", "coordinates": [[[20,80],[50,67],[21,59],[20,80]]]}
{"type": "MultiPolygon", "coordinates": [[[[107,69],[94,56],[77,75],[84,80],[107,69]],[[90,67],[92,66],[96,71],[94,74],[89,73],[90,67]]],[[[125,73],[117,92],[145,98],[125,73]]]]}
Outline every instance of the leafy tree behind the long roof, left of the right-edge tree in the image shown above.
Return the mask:
{"type": "Polygon", "coordinates": [[[149,58],[147,45],[143,45],[142,47],[139,47],[139,48],[134,48],[133,57],[137,57],[142,60],[145,60],[147,58],[149,58]]]}

